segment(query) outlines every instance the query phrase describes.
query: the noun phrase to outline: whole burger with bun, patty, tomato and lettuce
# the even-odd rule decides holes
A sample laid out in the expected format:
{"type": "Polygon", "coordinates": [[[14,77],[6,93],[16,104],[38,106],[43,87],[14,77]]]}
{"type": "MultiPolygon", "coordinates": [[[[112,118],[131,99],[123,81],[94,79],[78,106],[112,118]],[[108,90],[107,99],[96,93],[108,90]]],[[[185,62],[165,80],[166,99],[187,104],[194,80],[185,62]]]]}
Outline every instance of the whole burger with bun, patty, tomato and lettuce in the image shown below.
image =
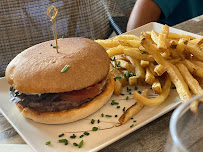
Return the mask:
{"type": "Polygon", "coordinates": [[[6,68],[11,102],[23,116],[45,124],[85,118],[111,97],[114,79],[105,49],[87,38],[58,39],[34,45],[6,68]]]}

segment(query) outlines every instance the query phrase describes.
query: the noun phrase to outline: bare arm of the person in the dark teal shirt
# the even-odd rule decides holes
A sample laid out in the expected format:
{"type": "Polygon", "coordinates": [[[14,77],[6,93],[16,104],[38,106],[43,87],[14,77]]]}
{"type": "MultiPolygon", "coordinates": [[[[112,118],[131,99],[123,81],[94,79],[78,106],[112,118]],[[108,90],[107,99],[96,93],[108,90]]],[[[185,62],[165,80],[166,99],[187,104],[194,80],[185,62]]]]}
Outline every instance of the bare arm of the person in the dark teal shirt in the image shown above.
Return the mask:
{"type": "Polygon", "coordinates": [[[158,21],[160,15],[161,9],[153,0],[137,0],[127,24],[127,31],[158,21]]]}

